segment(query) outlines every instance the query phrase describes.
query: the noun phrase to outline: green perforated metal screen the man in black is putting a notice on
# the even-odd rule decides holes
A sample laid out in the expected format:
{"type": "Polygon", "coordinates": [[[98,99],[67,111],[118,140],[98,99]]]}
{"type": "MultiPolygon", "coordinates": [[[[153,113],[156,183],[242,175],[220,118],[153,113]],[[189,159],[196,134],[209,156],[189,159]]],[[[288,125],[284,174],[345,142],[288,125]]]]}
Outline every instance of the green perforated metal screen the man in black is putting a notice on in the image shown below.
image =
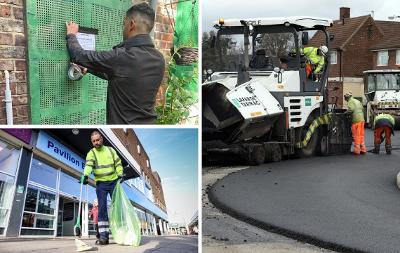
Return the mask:
{"type": "Polygon", "coordinates": [[[67,77],[65,22],[97,29],[96,50],[110,50],[122,41],[131,0],[26,2],[32,124],[105,124],[107,82],[91,74],[67,77]]]}

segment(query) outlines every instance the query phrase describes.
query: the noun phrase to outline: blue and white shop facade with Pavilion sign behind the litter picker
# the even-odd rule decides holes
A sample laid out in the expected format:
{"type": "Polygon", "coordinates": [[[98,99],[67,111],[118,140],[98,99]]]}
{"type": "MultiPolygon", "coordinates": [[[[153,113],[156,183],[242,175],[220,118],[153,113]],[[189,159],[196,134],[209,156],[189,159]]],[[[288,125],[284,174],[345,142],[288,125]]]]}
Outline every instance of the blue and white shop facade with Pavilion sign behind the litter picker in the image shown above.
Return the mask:
{"type": "Polygon", "coordinates": [[[0,129],[0,236],[73,236],[78,215],[82,235],[95,234],[89,217],[96,199],[94,180],[84,186],[78,213],[79,179],[94,130],[103,134],[104,144],[117,151],[123,165],[129,165],[133,178],[123,188],[141,221],[142,234],[167,233],[167,213],[154,203],[139,163],[111,129],[0,129]]]}

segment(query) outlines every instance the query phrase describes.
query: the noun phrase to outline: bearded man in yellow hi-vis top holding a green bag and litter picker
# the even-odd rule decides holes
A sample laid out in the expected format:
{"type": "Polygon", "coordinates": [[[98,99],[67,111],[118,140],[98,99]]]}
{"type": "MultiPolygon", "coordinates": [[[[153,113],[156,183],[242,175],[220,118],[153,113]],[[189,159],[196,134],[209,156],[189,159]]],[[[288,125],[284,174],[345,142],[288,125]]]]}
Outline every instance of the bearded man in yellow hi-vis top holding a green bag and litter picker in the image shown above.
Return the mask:
{"type": "Polygon", "coordinates": [[[93,172],[99,204],[99,244],[106,245],[109,243],[107,194],[112,197],[117,181],[123,180],[123,167],[121,159],[115,150],[112,147],[103,145],[103,137],[98,131],[94,131],[90,139],[94,148],[86,155],[86,165],[81,177],[81,183],[87,184],[88,176],[93,172]]]}

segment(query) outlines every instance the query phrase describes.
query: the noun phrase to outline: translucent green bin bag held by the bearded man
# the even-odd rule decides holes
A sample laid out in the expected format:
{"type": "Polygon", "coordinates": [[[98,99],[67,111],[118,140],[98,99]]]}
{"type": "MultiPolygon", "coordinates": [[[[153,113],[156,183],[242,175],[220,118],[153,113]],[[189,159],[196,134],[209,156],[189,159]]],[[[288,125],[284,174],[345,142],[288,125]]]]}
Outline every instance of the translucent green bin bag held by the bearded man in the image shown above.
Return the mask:
{"type": "Polygon", "coordinates": [[[140,221],[120,182],[115,186],[108,217],[117,244],[139,246],[140,221]]]}

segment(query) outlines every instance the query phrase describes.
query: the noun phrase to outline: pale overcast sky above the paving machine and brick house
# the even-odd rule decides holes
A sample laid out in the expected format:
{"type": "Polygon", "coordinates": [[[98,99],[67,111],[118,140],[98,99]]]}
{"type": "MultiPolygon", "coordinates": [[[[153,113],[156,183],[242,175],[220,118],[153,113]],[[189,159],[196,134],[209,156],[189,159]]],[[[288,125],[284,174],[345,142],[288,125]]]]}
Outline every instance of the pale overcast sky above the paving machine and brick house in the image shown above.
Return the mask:
{"type": "MultiPolygon", "coordinates": [[[[202,30],[212,29],[220,17],[254,18],[284,16],[316,16],[339,19],[339,8],[349,7],[350,17],[372,15],[374,19],[388,20],[388,16],[400,16],[398,0],[202,0],[202,30]]],[[[400,21],[400,19],[396,19],[400,21]]]]}

